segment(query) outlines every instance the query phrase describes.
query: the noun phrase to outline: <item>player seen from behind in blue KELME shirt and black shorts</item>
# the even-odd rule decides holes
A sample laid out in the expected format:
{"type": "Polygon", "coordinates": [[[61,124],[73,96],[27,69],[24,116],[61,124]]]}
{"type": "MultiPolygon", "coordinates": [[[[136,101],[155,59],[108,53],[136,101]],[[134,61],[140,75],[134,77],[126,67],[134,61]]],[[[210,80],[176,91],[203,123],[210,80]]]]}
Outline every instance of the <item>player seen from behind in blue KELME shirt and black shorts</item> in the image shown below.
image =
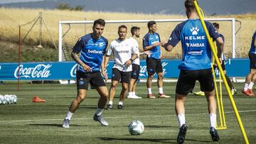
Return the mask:
{"type": "MultiPolygon", "coordinates": [[[[181,70],[176,84],[175,109],[179,122],[177,143],[183,143],[188,126],[185,120],[186,96],[195,86],[196,80],[200,82],[201,91],[205,92],[208,102],[208,113],[210,117],[210,135],[213,141],[218,141],[216,130],[216,101],[214,97],[213,74],[211,71],[211,49],[203,31],[201,21],[198,19],[196,7],[193,0],[185,1],[186,15],[188,20],[176,26],[171,33],[168,43],[164,44],[167,51],[173,50],[181,40],[183,57],[178,68],[181,70]]],[[[206,27],[210,37],[220,44],[223,51],[223,39],[215,31],[212,23],[206,21],[206,27]]]]}

